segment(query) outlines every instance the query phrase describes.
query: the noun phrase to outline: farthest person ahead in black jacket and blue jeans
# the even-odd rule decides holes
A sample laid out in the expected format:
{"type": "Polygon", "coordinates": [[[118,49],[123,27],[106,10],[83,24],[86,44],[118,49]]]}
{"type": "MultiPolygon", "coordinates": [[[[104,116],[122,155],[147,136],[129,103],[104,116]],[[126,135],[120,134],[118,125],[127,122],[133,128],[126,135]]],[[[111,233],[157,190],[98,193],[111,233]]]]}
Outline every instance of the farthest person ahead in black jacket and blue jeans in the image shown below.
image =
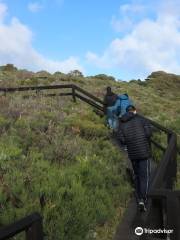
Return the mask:
{"type": "Polygon", "coordinates": [[[115,129],[117,126],[117,116],[115,103],[118,96],[113,93],[111,87],[106,88],[106,94],[104,96],[105,113],[107,115],[107,124],[110,128],[115,129]]]}

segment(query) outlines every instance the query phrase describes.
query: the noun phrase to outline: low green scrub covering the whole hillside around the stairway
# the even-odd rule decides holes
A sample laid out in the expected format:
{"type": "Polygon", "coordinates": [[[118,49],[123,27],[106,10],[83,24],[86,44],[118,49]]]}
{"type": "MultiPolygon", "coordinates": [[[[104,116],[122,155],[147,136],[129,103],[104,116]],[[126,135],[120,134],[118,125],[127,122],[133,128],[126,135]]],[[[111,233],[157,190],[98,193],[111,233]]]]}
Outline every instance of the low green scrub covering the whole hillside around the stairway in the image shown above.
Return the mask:
{"type": "MultiPolygon", "coordinates": [[[[127,83],[104,74],[35,74],[12,65],[1,67],[0,76],[1,87],[74,83],[100,98],[110,85],[180,136],[178,76],[158,72],[146,82],[127,83]],[[162,82],[171,77],[173,86],[162,82]]],[[[26,94],[0,97],[0,226],[38,211],[48,240],[112,239],[132,188],[126,156],[111,142],[105,119],[80,100],[26,94]]],[[[165,135],[154,139],[166,146],[165,135]]],[[[153,156],[159,161],[162,152],[154,149],[153,156]]]]}

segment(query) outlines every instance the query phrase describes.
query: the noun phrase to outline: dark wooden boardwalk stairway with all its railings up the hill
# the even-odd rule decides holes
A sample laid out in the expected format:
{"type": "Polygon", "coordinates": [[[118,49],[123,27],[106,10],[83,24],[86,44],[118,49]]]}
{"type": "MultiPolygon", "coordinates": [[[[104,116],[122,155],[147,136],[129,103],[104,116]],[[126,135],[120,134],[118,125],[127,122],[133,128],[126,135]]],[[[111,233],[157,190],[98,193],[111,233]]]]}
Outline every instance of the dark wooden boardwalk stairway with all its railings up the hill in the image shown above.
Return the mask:
{"type": "MultiPolygon", "coordinates": [[[[0,88],[2,95],[14,92],[39,92],[46,91],[44,96],[72,96],[73,101],[80,99],[91,105],[95,111],[104,115],[103,101],[82,88],[73,85],[53,85],[53,86],[32,86],[17,88],[0,88]],[[64,90],[69,92],[48,93],[47,90],[64,90]]],[[[180,240],[180,191],[173,190],[177,172],[177,136],[171,130],[164,128],[160,124],[148,119],[153,128],[163,132],[167,136],[167,146],[152,139],[154,147],[162,151],[162,159],[158,166],[154,164],[152,182],[149,191],[149,204],[146,213],[139,213],[136,208],[135,199],[132,198],[127,207],[127,211],[117,228],[113,240],[158,240],[170,239],[180,240]],[[141,232],[135,229],[141,227],[141,232]],[[173,233],[146,233],[149,230],[173,230],[173,233]]],[[[117,144],[117,142],[116,142],[117,144]]],[[[0,240],[9,239],[21,231],[26,232],[27,240],[42,240],[42,219],[39,214],[34,213],[18,222],[0,229],[0,240]]]]}

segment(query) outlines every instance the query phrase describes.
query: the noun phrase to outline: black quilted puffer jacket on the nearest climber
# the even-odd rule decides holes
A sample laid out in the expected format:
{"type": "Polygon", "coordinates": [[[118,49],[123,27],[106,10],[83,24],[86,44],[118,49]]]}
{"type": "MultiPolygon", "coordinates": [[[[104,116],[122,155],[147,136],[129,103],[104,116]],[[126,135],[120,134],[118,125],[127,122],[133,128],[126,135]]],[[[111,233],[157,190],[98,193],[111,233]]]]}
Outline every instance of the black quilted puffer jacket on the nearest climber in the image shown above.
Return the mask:
{"type": "Polygon", "coordinates": [[[120,118],[118,139],[127,145],[131,160],[141,160],[151,157],[150,137],[151,126],[147,120],[132,112],[120,118]]]}

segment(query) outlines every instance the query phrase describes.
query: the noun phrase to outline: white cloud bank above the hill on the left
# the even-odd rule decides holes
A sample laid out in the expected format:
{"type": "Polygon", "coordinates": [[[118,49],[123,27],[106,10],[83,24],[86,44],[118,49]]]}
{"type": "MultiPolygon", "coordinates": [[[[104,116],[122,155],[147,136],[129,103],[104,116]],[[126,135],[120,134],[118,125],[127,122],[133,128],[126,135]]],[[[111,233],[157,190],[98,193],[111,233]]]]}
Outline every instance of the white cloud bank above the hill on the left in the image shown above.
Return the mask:
{"type": "Polygon", "coordinates": [[[0,65],[13,63],[20,68],[34,71],[69,72],[74,69],[83,71],[76,57],[70,56],[63,61],[54,61],[44,57],[32,46],[33,34],[17,18],[12,18],[9,24],[4,22],[7,6],[0,4],[0,65]]]}

